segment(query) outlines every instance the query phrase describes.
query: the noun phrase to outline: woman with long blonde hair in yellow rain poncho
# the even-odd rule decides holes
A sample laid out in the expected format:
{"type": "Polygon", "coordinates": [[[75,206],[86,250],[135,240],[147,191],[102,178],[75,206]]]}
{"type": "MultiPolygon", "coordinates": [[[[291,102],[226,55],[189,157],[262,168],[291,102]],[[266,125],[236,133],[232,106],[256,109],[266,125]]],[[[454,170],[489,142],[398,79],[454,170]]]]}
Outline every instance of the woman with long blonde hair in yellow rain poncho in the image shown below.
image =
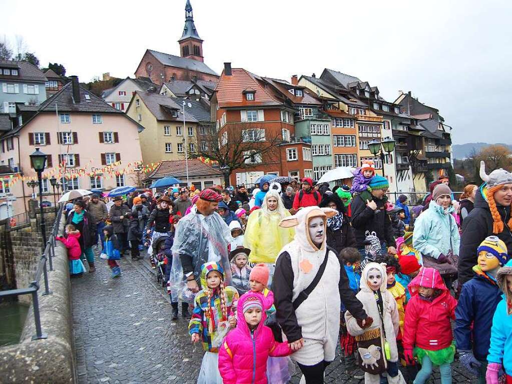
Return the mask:
{"type": "Polygon", "coordinates": [[[244,247],[251,250],[249,262],[265,263],[270,270],[268,285],[274,274],[274,263],[281,249],[293,240],[294,228],[282,228],[279,223],[290,216],[279,194],[270,189],[264,199],[261,209],[249,215],[245,228],[244,247]]]}

